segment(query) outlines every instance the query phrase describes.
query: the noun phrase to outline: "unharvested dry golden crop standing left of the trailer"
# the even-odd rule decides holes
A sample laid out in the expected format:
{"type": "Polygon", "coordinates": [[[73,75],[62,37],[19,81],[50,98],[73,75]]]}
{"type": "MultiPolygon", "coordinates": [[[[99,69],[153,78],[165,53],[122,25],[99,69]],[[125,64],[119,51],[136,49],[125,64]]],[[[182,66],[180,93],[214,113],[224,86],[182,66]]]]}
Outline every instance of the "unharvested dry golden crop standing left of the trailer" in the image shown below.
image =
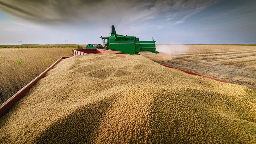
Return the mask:
{"type": "MultiPolygon", "coordinates": [[[[12,47],[15,46],[19,45],[12,47]]],[[[73,46],[67,48],[0,49],[0,104],[37,77],[61,56],[72,56],[72,49],[74,49],[73,46]]]]}

